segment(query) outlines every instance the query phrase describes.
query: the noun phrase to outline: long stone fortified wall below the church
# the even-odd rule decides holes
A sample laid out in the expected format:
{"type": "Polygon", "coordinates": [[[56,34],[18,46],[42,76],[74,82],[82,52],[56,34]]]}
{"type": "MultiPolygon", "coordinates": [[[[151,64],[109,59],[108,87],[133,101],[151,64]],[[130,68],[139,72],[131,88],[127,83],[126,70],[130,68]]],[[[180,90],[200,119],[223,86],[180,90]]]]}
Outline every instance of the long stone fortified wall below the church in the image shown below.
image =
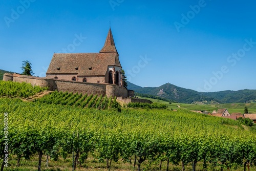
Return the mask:
{"type": "MultiPolygon", "coordinates": [[[[33,86],[49,87],[49,90],[57,90],[63,92],[78,92],[82,94],[98,94],[106,95],[107,97],[127,97],[128,91],[125,88],[119,87],[114,84],[108,83],[89,83],[89,82],[77,82],[60,80],[54,78],[41,78],[34,76],[26,76],[20,74],[5,73],[3,77],[4,81],[14,82],[28,82],[33,86]]],[[[131,93],[130,93],[131,94],[131,93]]]]}

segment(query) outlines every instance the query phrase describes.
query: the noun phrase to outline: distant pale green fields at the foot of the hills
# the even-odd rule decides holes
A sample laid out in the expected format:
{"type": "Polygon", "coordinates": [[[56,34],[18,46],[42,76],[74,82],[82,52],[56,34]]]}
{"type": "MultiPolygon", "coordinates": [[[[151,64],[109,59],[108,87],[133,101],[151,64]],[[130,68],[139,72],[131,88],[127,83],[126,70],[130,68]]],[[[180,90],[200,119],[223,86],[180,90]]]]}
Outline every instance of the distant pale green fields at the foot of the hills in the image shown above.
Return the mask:
{"type": "Polygon", "coordinates": [[[209,111],[212,112],[214,110],[218,110],[221,108],[226,108],[229,113],[242,113],[244,112],[244,107],[247,106],[249,113],[256,113],[256,103],[225,103],[225,104],[186,104],[186,103],[172,103],[157,100],[146,97],[139,97],[151,100],[152,102],[163,103],[168,106],[169,109],[187,109],[187,110],[195,110],[195,111],[209,111]]]}

